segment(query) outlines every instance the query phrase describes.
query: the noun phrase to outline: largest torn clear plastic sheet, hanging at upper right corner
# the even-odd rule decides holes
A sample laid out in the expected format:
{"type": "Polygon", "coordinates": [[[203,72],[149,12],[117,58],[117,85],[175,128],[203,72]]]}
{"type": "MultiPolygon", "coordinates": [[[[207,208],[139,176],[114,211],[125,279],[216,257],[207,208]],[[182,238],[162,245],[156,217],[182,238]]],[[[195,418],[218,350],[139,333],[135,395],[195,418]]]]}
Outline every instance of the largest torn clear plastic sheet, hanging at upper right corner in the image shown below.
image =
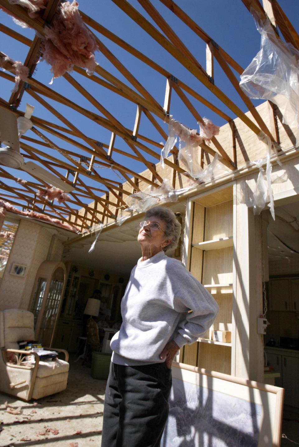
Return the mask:
{"type": "Polygon", "coordinates": [[[286,98],[283,120],[299,127],[299,51],[277,38],[270,20],[262,23],[255,12],[251,13],[261,34],[261,50],[242,73],[240,87],[248,97],[270,100],[278,106],[280,97],[286,98]]]}

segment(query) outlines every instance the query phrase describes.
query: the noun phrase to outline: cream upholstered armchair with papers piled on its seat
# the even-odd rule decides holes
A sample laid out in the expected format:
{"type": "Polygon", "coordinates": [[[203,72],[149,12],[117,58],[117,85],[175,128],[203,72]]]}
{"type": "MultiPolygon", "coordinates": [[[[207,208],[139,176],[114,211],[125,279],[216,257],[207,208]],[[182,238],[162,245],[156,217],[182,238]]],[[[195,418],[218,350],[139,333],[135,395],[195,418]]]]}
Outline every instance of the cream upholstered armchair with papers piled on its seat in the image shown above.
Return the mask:
{"type": "MultiPolygon", "coordinates": [[[[63,391],[67,387],[69,364],[65,350],[65,360],[42,361],[37,353],[34,362],[24,362],[25,350],[20,350],[18,342],[34,340],[34,315],[21,309],[7,309],[0,312],[0,391],[25,401],[63,391]],[[22,355],[23,354],[23,355],[22,355]]],[[[48,348],[49,349],[49,348],[48,348]]]]}

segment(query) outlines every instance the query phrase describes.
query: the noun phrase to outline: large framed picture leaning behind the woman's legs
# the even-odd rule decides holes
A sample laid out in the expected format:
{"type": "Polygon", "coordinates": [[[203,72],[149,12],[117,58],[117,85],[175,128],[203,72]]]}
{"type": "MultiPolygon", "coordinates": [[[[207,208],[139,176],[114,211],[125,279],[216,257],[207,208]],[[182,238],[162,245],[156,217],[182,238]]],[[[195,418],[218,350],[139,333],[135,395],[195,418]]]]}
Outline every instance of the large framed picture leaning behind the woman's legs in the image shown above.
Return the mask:
{"type": "Polygon", "coordinates": [[[161,447],[280,446],[284,389],[173,362],[161,447]]]}

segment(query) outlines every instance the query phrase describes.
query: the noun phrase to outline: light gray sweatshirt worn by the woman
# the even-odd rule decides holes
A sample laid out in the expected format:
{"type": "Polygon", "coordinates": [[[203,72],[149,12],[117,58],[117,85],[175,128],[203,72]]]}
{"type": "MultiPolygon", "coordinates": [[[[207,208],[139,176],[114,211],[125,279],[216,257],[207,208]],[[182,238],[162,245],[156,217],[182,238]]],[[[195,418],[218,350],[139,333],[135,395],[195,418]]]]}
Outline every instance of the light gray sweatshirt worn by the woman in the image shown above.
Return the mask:
{"type": "Polygon", "coordinates": [[[164,252],[140,258],[122,298],[122,326],[110,343],[112,362],[164,362],[159,355],[166,343],[174,340],[181,348],[196,342],[218,311],[215,299],[181,261],[164,252]]]}

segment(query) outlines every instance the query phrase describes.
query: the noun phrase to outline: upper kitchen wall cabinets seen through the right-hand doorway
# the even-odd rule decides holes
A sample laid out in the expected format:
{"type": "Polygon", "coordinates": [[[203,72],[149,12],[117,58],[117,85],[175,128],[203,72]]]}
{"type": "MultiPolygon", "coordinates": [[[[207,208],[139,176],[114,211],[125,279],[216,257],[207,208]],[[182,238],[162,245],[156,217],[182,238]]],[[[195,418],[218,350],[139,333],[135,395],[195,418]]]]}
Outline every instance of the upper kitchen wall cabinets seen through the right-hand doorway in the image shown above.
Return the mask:
{"type": "Polygon", "coordinates": [[[269,282],[269,309],[299,311],[299,278],[275,278],[269,282]]]}

